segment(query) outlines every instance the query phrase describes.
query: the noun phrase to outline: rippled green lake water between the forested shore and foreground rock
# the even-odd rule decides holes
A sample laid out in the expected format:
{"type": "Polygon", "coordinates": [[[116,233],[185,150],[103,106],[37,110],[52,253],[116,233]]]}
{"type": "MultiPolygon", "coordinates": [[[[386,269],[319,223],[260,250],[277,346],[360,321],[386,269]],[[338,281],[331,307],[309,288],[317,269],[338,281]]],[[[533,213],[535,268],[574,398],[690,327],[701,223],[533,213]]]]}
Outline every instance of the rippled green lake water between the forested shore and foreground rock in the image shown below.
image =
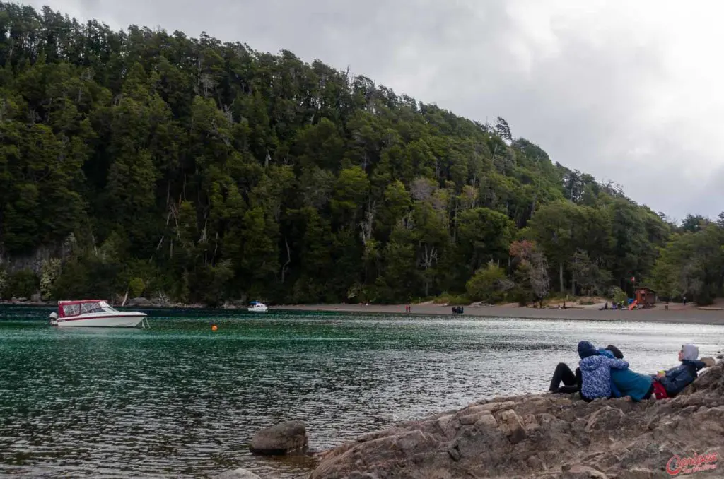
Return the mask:
{"type": "Polygon", "coordinates": [[[722,326],[148,310],[146,330],[64,329],[50,311],[0,307],[0,474],[302,478],[308,460],[251,456],[253,433],[299,419],[310,449],[327,449],[544,391],[580,339],[615,344],[643,373],[676,365],[683,342],[724,348],[722,326]]]}

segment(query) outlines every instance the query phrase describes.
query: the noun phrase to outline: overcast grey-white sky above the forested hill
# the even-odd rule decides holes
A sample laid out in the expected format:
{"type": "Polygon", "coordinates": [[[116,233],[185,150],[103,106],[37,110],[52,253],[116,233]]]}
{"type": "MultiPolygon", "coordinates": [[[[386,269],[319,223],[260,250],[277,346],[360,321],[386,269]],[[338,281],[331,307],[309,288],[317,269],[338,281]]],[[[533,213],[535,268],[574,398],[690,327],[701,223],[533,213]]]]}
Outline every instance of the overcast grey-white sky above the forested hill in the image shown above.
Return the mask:
{"type": "Polygon", "coordinates": [[[675,219],[724,210],[724,2],[31,0],[285,48],[484,122],[675,219]]]}

